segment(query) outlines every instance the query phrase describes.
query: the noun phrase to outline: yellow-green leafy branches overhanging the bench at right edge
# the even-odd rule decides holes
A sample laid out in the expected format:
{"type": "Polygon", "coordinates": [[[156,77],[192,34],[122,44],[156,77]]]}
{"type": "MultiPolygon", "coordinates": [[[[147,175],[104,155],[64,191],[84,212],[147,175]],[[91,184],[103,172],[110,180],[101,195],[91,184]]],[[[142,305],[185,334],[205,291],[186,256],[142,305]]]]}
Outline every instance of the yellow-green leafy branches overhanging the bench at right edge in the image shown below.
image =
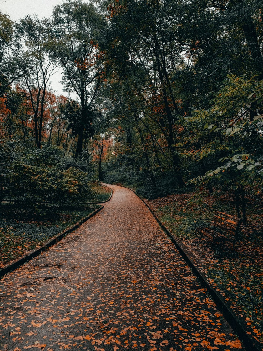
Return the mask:
{"type": "MultiPolygon", "coordinates": [[[[192,179],[190,183],[222,183],[236,189],[238,186],[262,183],[262,110],[263,82],[229,75],[209,110],[195,111],[189,120],[198,127],[199,134],[193,139],[207,139],[201,150],[182,153],[183,157],[197,160],[218,157],[217,167],[204,176],[192,179]],[[251,101],[254,118],[251,120],[251,101]],[[258,114],[258,115],[256,115],[258,114]],[[210,141],[213,140],[213,141],[210,141]],[[223,165],[221,165],[223,164],[223,165]]],[[[195,140],[191,143],[195,143],[195,140]]]]}

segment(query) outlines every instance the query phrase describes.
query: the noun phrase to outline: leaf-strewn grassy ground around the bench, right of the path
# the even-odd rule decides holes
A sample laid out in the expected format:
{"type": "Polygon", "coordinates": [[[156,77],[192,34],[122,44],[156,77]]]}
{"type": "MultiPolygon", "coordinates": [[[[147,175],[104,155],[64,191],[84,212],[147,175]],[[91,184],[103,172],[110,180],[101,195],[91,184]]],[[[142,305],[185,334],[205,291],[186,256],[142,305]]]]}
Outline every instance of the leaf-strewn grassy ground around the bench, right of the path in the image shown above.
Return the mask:
{"type": "Polygon", "coordinates": [[[175,194],[147,203],[167,229],[188,247],[233,311],[244,318],[247,333],[263,342],[263,199],[248,198],[248,224],[241,227],[242,239],[233,252],[231,243],[213,244],[206,237],[200,241],[195,234],[195,221],[212,219],[216,211],[236,214],[234,200],[227,194],[196,195],[175,194]]]}

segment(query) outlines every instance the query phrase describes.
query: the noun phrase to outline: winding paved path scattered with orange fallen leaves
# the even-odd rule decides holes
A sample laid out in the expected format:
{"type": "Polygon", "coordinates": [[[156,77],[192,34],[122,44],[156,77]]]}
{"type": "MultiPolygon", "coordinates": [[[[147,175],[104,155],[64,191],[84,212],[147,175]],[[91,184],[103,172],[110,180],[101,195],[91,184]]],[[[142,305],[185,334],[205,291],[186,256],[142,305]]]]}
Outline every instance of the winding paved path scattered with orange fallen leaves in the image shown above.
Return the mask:
{"type": "Polygon", "coordinates": [[[0,350],[238,347],[147,207],[111,187],[104,210],[0,280],[0,350]]]}

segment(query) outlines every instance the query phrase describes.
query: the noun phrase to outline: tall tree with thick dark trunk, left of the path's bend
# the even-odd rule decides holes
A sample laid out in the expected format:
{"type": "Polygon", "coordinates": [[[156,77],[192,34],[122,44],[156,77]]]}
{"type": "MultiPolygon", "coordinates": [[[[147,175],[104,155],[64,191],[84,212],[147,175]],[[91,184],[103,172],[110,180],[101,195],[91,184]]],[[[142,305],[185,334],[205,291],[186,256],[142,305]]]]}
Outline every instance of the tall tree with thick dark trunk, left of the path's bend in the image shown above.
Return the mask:
{"type": "Polygon", "coordinates": [[[92,104],[104,80],[103,53],[97,42],[103,20],[92,4],[68,0],[55,7],[53,24],[52,50],[63,69],[65,90],[74,91],[80,99],[77,158],[83,151],[92,104]]]}

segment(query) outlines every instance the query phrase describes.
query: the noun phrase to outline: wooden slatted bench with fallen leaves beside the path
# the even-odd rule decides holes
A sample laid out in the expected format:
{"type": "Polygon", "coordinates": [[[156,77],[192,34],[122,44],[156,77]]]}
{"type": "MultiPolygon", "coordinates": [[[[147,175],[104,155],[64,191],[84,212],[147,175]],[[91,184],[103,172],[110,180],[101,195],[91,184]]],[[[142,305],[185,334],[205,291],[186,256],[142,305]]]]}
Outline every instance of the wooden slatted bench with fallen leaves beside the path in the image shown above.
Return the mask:
{"type": "Polygon", "coordinates": [[[215,242],[223,241],[225,243],[225,241],[231,241],[233,243],[233,250],[235,250],[235,243],[239,240],[238,234],[242,223],[241,218],[224,212],[217,212],[210,226],[207,226],[204,220],[211,221],[211,218],[200,219],[195,223],[195,232],[201,234],[200,239],[205,235],[215,242]]]}

